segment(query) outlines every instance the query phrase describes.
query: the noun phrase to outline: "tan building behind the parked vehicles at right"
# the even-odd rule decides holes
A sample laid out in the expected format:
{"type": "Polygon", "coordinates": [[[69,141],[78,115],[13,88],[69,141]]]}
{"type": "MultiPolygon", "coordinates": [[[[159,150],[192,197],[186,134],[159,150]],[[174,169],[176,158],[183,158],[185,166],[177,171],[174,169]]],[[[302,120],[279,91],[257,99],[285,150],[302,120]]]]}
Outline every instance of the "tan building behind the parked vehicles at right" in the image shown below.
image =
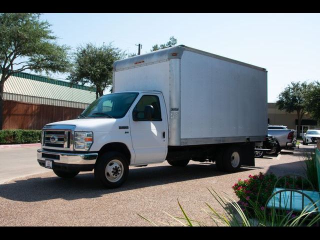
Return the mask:
{"type": "MultiPolygon", "coordinates": [[[[279,110],[275,103],[268,102],[268,123],[270,125],[285,125],[290,129],[297,130],[298,119],[296,111],[287,113],[284,110],[279,110]]],[[[320,128],[317,121],[312,119],[309,114],[303,115],[300,125],[300,136],[302,136],[307,129],[314,128],[320,128]]]]}

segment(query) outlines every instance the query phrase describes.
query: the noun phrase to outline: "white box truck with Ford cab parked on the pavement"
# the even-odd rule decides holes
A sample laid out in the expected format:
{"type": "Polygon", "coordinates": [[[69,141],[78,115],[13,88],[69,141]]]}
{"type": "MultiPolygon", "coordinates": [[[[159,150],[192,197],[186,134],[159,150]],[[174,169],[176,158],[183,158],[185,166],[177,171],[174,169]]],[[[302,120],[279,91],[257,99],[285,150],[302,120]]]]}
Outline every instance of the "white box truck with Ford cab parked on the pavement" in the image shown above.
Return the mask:
{"type": "Polygon", "coordinates": [[[45,125],[37,160],[60,177],[94,169],[111,188],[129,165],[254,166],[266,135],[267,71],[178,45],[115,61],[112,93],[77,119],[45,125]]]}

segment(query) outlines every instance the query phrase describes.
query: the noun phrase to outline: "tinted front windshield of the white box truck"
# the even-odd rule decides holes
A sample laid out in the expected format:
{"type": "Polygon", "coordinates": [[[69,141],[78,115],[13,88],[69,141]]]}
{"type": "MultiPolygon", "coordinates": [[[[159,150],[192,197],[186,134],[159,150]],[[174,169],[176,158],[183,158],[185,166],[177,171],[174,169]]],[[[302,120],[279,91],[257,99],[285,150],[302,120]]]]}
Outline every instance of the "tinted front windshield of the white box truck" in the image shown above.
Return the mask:
{"type": "Polygon", "coordinates": [[[130,108],[139,93],[120,92],[100,96],[95,99],[80,115],[81,117],[121,118],[130,108]]]}

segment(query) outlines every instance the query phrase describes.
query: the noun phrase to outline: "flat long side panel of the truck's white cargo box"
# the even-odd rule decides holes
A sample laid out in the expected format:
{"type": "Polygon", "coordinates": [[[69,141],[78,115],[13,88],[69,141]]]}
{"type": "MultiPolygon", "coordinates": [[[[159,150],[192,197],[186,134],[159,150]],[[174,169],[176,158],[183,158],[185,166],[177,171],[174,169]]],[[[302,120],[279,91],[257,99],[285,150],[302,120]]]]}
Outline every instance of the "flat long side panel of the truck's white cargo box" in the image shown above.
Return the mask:
{"type": "Polygon", "coordinates": [[[185,50],[180,81],[182,145],[258,141],[267,134],[265,70],[185,50]]]}

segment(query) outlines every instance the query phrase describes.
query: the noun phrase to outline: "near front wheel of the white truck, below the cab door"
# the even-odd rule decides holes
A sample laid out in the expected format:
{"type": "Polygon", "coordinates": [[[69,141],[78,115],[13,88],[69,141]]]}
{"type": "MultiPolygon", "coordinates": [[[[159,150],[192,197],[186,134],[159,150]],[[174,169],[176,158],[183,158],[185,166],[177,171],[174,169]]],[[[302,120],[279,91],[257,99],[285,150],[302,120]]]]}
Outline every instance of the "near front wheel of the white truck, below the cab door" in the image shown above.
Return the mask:
{"type": "Polygon", "coordinates": [[[94,178],[106,188],[122,185],[128,173],[129,166],[126,157],[116,151],[103,153],[94,166],[94,178]]]}

